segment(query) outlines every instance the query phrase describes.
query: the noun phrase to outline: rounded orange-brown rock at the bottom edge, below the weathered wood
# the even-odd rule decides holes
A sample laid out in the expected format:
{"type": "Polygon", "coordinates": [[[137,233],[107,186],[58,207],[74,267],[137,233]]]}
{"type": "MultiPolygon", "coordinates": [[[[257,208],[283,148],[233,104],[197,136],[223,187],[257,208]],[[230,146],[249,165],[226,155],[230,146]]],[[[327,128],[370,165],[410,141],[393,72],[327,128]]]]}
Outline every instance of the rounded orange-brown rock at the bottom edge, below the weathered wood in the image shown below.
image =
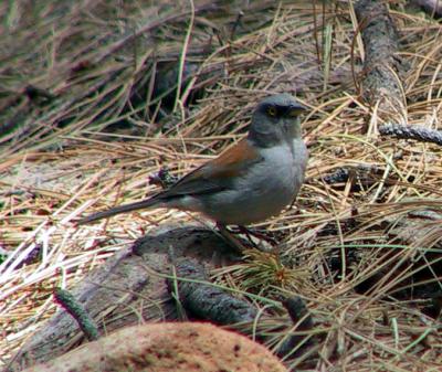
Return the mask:
{"type": "Polygon", "coordinates": [[[120,329],[25,372],[283,372],[263,346],[210,323],[147,323],[120,329]]]}

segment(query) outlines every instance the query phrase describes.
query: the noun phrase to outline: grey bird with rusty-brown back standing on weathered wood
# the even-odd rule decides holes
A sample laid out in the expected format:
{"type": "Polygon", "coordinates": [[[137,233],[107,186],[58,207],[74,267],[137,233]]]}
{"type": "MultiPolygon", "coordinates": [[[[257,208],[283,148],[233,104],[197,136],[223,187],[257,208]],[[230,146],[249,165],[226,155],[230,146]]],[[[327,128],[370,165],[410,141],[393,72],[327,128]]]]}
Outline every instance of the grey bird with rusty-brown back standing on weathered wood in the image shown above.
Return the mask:
{"type": "Polygon", "coordinates": [[[221,233],[227,225],[265,221],[293,203],[304,182],[308,151],[301,115],[306,110],[287,93],[270,95],[257,103],[245,138],[218,158],[148,199],[93,213],[77,224],[152,208],[200,212],[221,233]]]}

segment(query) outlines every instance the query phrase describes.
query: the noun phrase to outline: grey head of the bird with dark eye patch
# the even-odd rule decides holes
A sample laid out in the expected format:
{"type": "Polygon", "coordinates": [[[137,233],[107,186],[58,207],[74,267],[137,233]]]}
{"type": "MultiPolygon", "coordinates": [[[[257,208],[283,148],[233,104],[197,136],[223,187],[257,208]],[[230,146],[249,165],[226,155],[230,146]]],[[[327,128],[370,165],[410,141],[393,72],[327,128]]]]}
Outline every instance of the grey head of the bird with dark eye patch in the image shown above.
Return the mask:
{"type": "Polygon", "coordinates": [[[261,147],[273,147],[301,138],[299,115],[306,108],[290,94],[276,94],[261,100],[252,116],[249,139],[261,147]]]}

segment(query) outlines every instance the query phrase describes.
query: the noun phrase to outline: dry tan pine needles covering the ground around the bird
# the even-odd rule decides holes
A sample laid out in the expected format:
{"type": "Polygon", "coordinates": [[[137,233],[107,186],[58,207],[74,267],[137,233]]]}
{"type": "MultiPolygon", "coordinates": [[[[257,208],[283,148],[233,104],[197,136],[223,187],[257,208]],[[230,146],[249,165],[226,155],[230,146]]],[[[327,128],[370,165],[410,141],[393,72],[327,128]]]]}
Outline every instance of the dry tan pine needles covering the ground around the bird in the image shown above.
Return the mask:
{"type": "MultiPolygon", "coordinates": [[[[357,24],[347,1],[315,11],[302,1],[276,8],[260,2],[233,41],[228,38],[234,10],[200,13],[192,38],[186,39],[187,3],[181,9],[150,1],[31,3],[0,6],[0,116],[25,118],[0,142],[0,245],[13,252],[0,266],[0,360],[53,313],[54,286],[73,285],[158,224],[194,216],[141,211],[81,227],[73,219],[151,194],[150,173],[167,164],[183,174],[213,157],[241,138],[260,97],[287,91],[312,108],[304,123],[308,178],[297,208],[260,224],[276,234],[284,253],[278,262],[249,257],[215,276],[257,294],[260,306],[267,299],[276,326],[288,320],[276,316],[281,311],[273,300],[293,293],[304,298],[318,325],[319,357],[311,359],[315,370],[439,369],[439,322],[421,312],[419,298],[390,296],[413,286],[410,278],[440,259],[441,220],[414,220],[409,231],[402,223],[417,211],[442,211],[442,150],[376,135],[381,117],[369,115],[355,87],[364,52],[358,35],[354,42],[357,24]],[[210,22],[219,25],[219,36],[210,22]],[[135,38],[141,29],[152,29],[151,34],[135,38]],[[158,116],[155,97],[131,107],[131,92],[151,86],[154,56],[181,55],[182,61],[185,41],[189,51],[210,45],[210,53],[192,59],[201,71],[220,74],[208,79],[199,104],[183,108],[192,84],[200,82],[190,79],[171,116],[158,116]],[[22,93],[28,84],[56,97],[41,107],[22,93]],[[110,134],[122,120],[136,130],[110,134]],[[369,130],[361,134],[367,120],[369,130]],[[371,169],[364,171],[368,182],[357,173],[340,184],[325,182],[340,168],[362,167],[371,169]],[[19,267],[36,247],[40,259],[19,267]],[[377,273],[381,279],[373,289],[355,290],[377,273]]],[[[201,3],[196,1],[197,10],[201,3]]],[[[401,6],[392,17],[407,66],[406,119],[441,129],[442,28],[401,6]]],[[[433,270],[425,280],[441,285],[441,273],[433,270]]]]}

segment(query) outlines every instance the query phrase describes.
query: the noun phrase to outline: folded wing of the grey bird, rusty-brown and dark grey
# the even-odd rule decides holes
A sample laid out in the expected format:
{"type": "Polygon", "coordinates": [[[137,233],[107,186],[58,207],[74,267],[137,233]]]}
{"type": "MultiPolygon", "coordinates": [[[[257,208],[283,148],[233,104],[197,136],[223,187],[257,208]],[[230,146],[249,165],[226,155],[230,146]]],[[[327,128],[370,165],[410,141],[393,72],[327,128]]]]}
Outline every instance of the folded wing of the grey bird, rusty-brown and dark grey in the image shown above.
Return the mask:
{"type": "Polygon", "coordinates": [[[169,190],[160,192],[158,196],[169,199],[228,190],[235,177],[241,176],[253,163],[262,160],[261,155],[248,144],[246,139],[243,139],[218,158],[185,176],[169,190]]]}

